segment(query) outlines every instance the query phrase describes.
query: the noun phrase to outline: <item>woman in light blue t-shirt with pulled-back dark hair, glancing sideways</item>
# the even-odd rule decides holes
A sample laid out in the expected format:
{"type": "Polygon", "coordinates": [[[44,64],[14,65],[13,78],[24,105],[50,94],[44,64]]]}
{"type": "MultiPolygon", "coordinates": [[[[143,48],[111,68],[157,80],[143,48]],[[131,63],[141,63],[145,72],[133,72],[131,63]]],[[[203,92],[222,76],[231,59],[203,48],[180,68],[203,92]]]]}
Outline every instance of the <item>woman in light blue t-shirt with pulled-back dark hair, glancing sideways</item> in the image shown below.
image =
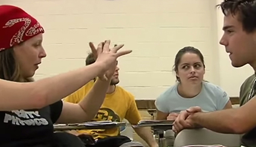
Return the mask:
{"type": "Polygon", "coordinates": [[[184,47],[175,57],[174,71],[178,83],[155,101],[157,119],[172,119],[181,110],[199,106],[206,112],[232,108],[228,95],[219,86],[203,80],[204,57],[194,47],[184,47]]]}

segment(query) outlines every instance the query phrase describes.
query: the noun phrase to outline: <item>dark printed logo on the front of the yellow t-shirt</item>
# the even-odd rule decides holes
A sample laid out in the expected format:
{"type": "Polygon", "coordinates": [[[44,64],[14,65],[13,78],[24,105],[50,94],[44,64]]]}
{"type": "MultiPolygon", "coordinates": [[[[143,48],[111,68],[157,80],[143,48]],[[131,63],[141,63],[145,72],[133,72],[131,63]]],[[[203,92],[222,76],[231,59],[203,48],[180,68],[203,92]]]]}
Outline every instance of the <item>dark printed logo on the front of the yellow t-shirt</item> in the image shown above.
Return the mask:
{"type": "Polygon", "coordinates": [[[113,110],[108,108],[101,108],[99,109],[97,115],[95,116],[95,119],[93,121],[115,121],[120,122],[119,116],[114,113],[113,110]]]}

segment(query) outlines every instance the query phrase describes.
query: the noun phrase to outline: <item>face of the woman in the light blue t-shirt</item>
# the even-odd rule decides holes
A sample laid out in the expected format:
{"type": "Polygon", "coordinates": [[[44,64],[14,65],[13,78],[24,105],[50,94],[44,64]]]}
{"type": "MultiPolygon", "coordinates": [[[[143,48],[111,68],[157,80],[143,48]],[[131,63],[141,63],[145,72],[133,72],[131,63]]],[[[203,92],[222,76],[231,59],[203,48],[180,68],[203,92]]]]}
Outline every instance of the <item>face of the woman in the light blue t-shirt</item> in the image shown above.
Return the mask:
{"type": "Polygon", "coordinates": [[[180,77],[183,84],[200,84],[204,79],[204,73],[204,65],[199,56],[195,53],[185,53],[181,57],[176,76],[180,77]]]}

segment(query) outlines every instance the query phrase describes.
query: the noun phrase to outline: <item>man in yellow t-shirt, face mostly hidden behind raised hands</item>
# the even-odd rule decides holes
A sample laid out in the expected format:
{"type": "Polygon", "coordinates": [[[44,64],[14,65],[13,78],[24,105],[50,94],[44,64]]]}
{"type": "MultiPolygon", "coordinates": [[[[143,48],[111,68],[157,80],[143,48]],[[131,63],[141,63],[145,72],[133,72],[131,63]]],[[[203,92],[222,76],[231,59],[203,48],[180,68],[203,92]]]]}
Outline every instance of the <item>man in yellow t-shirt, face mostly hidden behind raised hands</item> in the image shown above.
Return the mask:
{"type": "MultiPolygon", "coordinates": [[[[95,59],[91,53],[86,58],[86,65],[90,65],[93,62],[95,62],[95,59]]],[[[134,96],[122,87],[116,86],[117,83],[119,83],[118,71],[119,68],[116,67],[116,71],[111,79],[111,83],[101,109],[99,109],[97,115],[92,121],[122,122],[125,118],[130,122],[130,124],[137,124],[141,120],[134,96]]],[[[87,85],[78,89],[78,91],[64,98],[64,101],[79,103],[79,101],[89,93],[95,81],[96,79],[93,79],[87,83],[87,85]]],[[[142,137],[149,146],[158,146],[152,136],[151,128],[134,128],[134,131],[136,131],[136,133],[142,137]]],[[[143,146],[141,143],[131,142],[128,137],[120,136],[119,127],[105,130],[77,130],[75,134],[90,134],[93,139],[97,140],[95,146],[143,146]]]]}

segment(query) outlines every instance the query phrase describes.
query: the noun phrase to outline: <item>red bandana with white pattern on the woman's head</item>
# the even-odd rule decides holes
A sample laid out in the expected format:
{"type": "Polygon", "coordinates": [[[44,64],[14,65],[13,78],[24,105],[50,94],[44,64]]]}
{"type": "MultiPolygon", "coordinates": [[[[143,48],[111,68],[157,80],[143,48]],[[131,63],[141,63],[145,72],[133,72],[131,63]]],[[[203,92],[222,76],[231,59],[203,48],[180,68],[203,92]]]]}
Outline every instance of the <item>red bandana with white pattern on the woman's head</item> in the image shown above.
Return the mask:
{"type": "Polygon", "coordinates": [[[0,51],[44,33],[34,17],[13,5],[0,5],[0,51]]]}

